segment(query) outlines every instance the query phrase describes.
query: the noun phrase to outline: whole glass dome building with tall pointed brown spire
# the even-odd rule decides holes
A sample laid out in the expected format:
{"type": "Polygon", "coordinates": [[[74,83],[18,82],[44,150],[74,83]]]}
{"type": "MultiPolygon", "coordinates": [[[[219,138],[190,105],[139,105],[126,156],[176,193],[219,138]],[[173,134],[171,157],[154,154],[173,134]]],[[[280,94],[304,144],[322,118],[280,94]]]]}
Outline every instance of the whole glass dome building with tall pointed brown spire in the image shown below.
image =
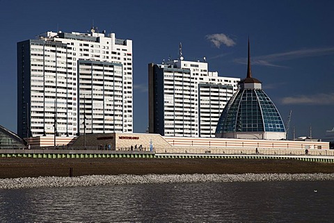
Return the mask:
{"type": "Polygon", "coordinates": [[[247,76],[238,85],[239,89],[218,120],[216,138],[285,139],[285,126],[280,113],[262,90],[261,81],[252,77],[249,40],[247,76]]]}

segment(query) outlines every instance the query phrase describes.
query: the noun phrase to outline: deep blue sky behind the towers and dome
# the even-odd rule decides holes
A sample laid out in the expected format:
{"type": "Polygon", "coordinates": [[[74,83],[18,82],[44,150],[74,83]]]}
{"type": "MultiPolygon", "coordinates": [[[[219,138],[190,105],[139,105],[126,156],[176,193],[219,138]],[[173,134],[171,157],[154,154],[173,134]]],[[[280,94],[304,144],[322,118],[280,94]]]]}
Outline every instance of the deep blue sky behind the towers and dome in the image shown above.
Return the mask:
{"type": "MultiPolygon", "coordinates": [[[[0,125],[16,132],[16,44],[45,31],[86,32],[92,23],[133,40],[134,132],[148,126],[148,63],[207,58],[220,76],[253,76],[290,133],[321,138],[334,127],[334,1],[0,0],[0,125]]],[[[292,138],[292,134],[290,135],[292,138]]]]}

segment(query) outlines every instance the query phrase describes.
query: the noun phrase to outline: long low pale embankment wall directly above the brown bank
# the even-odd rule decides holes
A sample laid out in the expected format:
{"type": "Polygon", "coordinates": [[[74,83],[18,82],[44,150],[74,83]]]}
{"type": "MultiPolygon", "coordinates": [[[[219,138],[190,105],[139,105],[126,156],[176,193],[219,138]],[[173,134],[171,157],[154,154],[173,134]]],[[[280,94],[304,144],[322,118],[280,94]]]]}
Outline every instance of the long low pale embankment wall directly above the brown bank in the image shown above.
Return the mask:
{"type": "MultiPolygon", "coordinates": [[[[327,154],[289,154],[281,150],[276,154],[264,154],[259,150],[256,154],[252,150],[225,150],[222,153],[195,154],[188,151],[176,153],[159,153],[154,151],[112,151],[112,150],[61,150],[61,149],[1,149],[0,158],[247,158],[247,159],[295,159],[311,162],[334,163],[332,151],[327,154]]],[[[310,151],[312,154],[312,150],[310,151]]],[[[314,151],[315,152],[315,151],[314,151]]]]}

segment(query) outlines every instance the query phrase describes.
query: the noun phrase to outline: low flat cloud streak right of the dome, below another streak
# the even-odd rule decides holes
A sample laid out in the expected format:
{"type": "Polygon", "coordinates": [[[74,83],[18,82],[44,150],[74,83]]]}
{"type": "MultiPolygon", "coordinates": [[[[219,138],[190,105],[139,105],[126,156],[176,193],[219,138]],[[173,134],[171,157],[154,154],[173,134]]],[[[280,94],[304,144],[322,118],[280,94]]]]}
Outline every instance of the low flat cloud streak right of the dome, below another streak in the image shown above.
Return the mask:
{"type": "Polygon", "coordinates": [[[296,104],[296,105],[333,105],[334,93],[330,94],[314,94],[314,95],[297,95],[294,97],[284,97],[282,104],[296,104]]]}

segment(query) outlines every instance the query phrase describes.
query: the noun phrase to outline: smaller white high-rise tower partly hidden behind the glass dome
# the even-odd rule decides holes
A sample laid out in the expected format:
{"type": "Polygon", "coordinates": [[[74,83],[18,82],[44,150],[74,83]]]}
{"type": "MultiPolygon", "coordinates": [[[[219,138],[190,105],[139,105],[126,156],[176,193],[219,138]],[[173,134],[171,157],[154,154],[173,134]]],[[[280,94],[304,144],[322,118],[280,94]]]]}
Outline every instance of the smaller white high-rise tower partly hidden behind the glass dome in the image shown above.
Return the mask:
{"type": "Polygon", "coordinates": [[[180,56],[149,64],[149,132],[166,136],[214,137],[218,119],[240,79],[209,72],[207,62],[180,56]]]}

